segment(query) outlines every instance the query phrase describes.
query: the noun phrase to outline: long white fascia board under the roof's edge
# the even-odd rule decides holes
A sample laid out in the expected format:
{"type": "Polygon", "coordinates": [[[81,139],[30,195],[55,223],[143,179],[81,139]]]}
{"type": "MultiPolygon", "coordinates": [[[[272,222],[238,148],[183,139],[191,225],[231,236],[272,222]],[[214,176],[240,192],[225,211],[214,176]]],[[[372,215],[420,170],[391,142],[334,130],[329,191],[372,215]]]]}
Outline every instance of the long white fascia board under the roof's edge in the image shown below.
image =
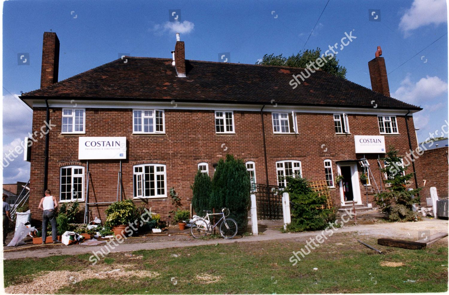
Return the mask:
{"type": "MultiPolygon", "coordinates": [[[[31,99],[30,99],[31,100],[31,99]]],[[[33,107],[46,107],[44,100],[31,100],[33,107]]],[[[195,103],[171,100],[163,101],[103,101],[103,100],[48,100],[53,108],[159,108],[174,110],[211,110],[211,111],[248,111],[260,112],[263,104],[222,104],[222,103],[195,103]]],[[[347,113],[366,115],[404,116],[408,110],[388,108],[351,108],[351,107],[326,107],[304,105],[266,104],[264,112],[280,113],[347,113]]],[[[418,110],[411,110],[409,116],[418,110]]]]}

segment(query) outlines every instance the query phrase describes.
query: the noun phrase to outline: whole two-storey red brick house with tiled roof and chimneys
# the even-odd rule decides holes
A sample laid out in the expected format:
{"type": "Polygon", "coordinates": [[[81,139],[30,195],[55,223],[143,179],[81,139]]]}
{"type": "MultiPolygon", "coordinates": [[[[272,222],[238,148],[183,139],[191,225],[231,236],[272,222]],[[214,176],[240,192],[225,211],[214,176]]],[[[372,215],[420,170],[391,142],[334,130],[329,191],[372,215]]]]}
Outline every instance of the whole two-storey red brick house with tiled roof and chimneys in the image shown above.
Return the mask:
{"type": "Polygon", "coordinates": [[[41,88],[21,96],[33,131],[49,120],[52,128],[31,147],[33,217],[48,187],[62,202],[106,202],[89,205],[93,217],[134,198],[166,218],[170,188],[189,208],[198,169],[212,177],[227,153],[247,163],[255,183],[282,187],[279,175],[301,174],[327,180],[336,206],[366,206],[384,177],[385,147],[417,147],[409,135],[421,108],[390,97],[383,57],[369,63],[376,92],[321,70],[293,89],[292,75],[306,69],[185,60],[179,39],[172,53],[126,56],[57,82],[59,40],[44,33],[41,88]],[[366,187],[363,157],[372,171],[366,187]],[[339,174],[345,179],[336,183],[339,174]]]}

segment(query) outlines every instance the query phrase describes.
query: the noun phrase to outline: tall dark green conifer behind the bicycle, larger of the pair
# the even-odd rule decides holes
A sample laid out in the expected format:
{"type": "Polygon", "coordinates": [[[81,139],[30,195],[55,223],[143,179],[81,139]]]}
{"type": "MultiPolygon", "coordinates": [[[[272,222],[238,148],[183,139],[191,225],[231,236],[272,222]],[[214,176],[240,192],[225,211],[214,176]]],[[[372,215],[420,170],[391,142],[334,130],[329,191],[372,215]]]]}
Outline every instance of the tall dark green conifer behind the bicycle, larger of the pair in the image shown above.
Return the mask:
{"type": "Polygon", "coordinates": [[[216,210],[229,209],[229,218],[233,218],[239,230],[248,225],[251,180],[245,163],[226,155],[226,161],[220,159],[212,179],[211,206],[216,210]]]}

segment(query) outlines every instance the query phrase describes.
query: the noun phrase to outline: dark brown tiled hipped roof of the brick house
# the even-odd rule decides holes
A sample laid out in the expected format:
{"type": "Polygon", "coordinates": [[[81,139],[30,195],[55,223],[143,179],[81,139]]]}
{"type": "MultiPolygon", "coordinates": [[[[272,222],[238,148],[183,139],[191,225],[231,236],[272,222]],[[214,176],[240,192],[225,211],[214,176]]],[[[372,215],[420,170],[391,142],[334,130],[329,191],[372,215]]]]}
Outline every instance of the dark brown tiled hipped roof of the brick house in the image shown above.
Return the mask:
{"type": "Polygon", "coordinates": [[[292,89],[304,69],[186,60],[178,78],[171,59],[118,59],[22,95],[110,100],[176,100],[420,109],[321,70],[292,89]],[[274,100],[274,101],[272,101],[274,100]],[[371,101],[374,100],[372,104],[371,101]]]}

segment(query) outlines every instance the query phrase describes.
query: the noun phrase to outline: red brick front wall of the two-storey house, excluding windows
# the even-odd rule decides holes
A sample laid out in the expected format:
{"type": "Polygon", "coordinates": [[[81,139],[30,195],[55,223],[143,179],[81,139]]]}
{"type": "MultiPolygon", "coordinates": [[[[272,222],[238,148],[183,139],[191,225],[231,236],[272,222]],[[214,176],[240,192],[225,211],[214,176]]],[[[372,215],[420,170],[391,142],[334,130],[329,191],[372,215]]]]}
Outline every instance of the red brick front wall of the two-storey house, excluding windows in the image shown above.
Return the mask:
{"type": "MultiPolygon", "coordinates": [[[[51,108],[50,119],[56,124],[49,136],[48,188],[59,196],[60,167],[83,165],[78,160],[79,136],[126,136],[127,159],[123,166],[123,198],[133,197],[133,165],[161,163],[166,165],[167,191],[171,187],[181,198],[182,206],[189,208],[194,181],[199,162],[208,162],[209,175],[213,177],[212,163],[218,162],[227,153],[244,161],[254,161],[258,183],[265,183],[264,146],[260,112],[234,111],[235,134],[216,134],[214,111],[165,110],[165,134],[132,134],[131,109],[86,109],[85,134],[61,134],[61,108],[51,108]],[[95,113],[94,113],[95,112],[95,113]]],[[[335,161],[360,159],[355,154],[354,134],[379,135],[375,115],[348,114],[351,134],[335,134],[332,113],[297,113],[299,134],[273,134],[271,113],[264,112],[269,183],[277,185],[276,161],[299,160],[303,176],[312,180],[325,180],[325,159],[332,160],[334,178],[337,175],[335,161]],[[321,147],[324,144],[323,147],[321,147]],[[326,150],[327,148],[327,150],[326,150]]],[[[40,130],[44,124],[45,108],[34,108],[33,130],[40,130]]],[[[405,117],[398,116],[400,134],[385,135],[387,147],[393,145],[402,155],[409,150],[405,117]]],[[[414,130],[409,119],[409,130],[414,130]]],[[[416,139],[412,136],[412,146],[416,139]]],[[[38,139],[31,151],[31,192],[30,207],[33,218],[40,219],[37,209],[43,196],[44,179],[44,138],[38,139]]],[[[380,155],[381,157],[383,155],[380,155]]],[[[366,154],[376,182],[380,183],[377,168],[377,154],[366,154]]],[[[119,160],[89,161],[91,180],[89,182],[89,202],[110,202],[116,200],[119,160]]],[[[360,174],[361,168],[358,167],[360,174]]],[[[421,178],[418,175],[418,183],[421,178]]],[[[87,179],[85,179],[87,180],[87,179]]],[[[409,185],[414,187],[414,182],[409,185]]],[[[360,185],[361,199],[365,203],[365,187],[360,185]]],[[[369,202],[373,202],[376,189],[369,187],[369,202]]],[[[331,188],[335,206],[340,206],[339,188],[331,188]]],[[[160,213],[167,220],[169,211],[174,209],[172,199],[167,198],[136,200],[144,202],[153,212],[160,213]]],[[[373,204],[374,205],[374,204],[373,204]]],[[[81,204],[84,207],[84,203],[81,204]]],[[[105,219],[107,205],[89,206],[92,216],[105,219]]]]}

